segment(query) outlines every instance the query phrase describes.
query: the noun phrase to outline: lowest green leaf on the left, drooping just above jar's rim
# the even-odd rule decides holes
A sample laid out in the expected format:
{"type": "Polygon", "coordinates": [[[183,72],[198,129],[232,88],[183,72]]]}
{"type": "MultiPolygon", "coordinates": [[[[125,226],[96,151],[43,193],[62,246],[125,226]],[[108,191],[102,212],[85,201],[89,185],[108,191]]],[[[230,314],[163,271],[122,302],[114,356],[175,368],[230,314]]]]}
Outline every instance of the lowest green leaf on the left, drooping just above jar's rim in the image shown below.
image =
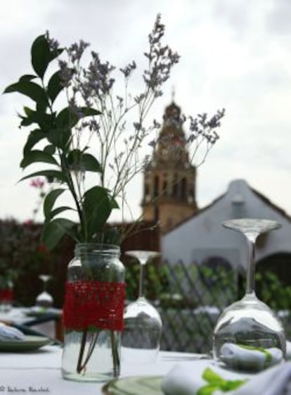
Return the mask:
{"type": "Polygon", "coordinates": [[[51,250],[60,242],[64,234],[70,234],[74,225],[75,222],[66,218],[56,218],[50,222],[45,222],[41,241],[51,250]]]}

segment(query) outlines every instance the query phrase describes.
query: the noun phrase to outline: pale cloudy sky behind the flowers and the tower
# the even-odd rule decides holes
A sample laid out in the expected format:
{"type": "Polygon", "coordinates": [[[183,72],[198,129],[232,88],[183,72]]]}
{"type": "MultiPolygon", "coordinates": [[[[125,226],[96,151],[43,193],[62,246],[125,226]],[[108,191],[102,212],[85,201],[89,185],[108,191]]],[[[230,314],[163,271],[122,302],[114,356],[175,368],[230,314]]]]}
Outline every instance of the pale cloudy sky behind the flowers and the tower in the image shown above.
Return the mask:
{"type": "MultiPolygon", "coordinates": [[[[162,118],[173,87],[186,114],[226,108],[221,139],[198,170],[198,205],[243,178],[291,215],[290,0],[1,0],[1,92],[31,72],[30,46],[46,30],[63,45],[84,39],[122,66],[141,58],[157,13],[181,61],[153,116],[162,118]]],[[[37,193],[18,183],[27,137],[16,117],[22,102],[18,94],[0,96],[0,218],[27,220],[37,193]]],[[[141,179],[130,195],[138,215],[141,179]]]]}

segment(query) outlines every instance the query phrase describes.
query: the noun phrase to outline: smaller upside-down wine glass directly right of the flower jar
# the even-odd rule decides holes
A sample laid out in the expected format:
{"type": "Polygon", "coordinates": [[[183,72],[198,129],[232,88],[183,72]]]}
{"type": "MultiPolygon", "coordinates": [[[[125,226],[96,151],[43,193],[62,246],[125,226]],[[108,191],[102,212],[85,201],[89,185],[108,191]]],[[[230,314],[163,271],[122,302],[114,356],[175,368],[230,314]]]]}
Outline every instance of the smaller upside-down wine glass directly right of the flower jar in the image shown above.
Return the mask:
{"type": "Polygon", "coordinates": [[[160,349],[162,320],[157,309],[145,299],[144,269],[150,259],[159,253],[155,251],[127,251],[140,263],[138,299],[129,303],[124,311],[122,332],[122,360],[129,363],[150,363],[160,349]]]}

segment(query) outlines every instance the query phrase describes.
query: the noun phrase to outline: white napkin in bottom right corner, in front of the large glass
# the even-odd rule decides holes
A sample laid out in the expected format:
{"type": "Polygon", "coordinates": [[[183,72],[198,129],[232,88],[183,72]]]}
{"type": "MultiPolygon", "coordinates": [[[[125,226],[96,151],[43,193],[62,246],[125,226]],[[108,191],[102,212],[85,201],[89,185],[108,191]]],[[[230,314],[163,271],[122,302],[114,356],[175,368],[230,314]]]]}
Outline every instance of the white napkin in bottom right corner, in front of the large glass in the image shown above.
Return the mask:
{"type": "MultiPolygon", "coordinates": [[[[208,367],[209,363],[208,363],[208,367]]],[[[203,371],[207,368],[193,363],[192,369],[187,365],[175,365],[162,381],[162,391],[166,395],[196,395],[201,387],[207,382],[202,379],[203,371]]],[[[233,391],[221,391],[216,389],[212,395],[283,395],[291,380],[291,362],[280,363],[257,373],[257,375],[238,375],[228,370],[210,367],[224,380],[247,380],[239,388],[233,391]]]]}

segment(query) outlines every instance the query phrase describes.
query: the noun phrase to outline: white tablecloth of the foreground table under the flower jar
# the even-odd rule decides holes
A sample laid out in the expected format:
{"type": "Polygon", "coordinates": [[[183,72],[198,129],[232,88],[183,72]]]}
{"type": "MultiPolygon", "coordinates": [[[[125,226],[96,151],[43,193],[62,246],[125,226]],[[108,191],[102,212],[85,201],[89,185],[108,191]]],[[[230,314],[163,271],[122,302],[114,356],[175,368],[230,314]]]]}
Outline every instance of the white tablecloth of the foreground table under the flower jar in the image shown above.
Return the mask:
{"type": "MultiPolygon", "coordinates": [[[[62,349],[44,346],[26,353],[0,353],[0,394],[101,395],[105,383],[79,383],[60,375],[62,349]]],[[[122,364],[121,377],[165,375],[179,361],[201,358],[199,354],[160,351],[156,363],[122,364]]]]}

